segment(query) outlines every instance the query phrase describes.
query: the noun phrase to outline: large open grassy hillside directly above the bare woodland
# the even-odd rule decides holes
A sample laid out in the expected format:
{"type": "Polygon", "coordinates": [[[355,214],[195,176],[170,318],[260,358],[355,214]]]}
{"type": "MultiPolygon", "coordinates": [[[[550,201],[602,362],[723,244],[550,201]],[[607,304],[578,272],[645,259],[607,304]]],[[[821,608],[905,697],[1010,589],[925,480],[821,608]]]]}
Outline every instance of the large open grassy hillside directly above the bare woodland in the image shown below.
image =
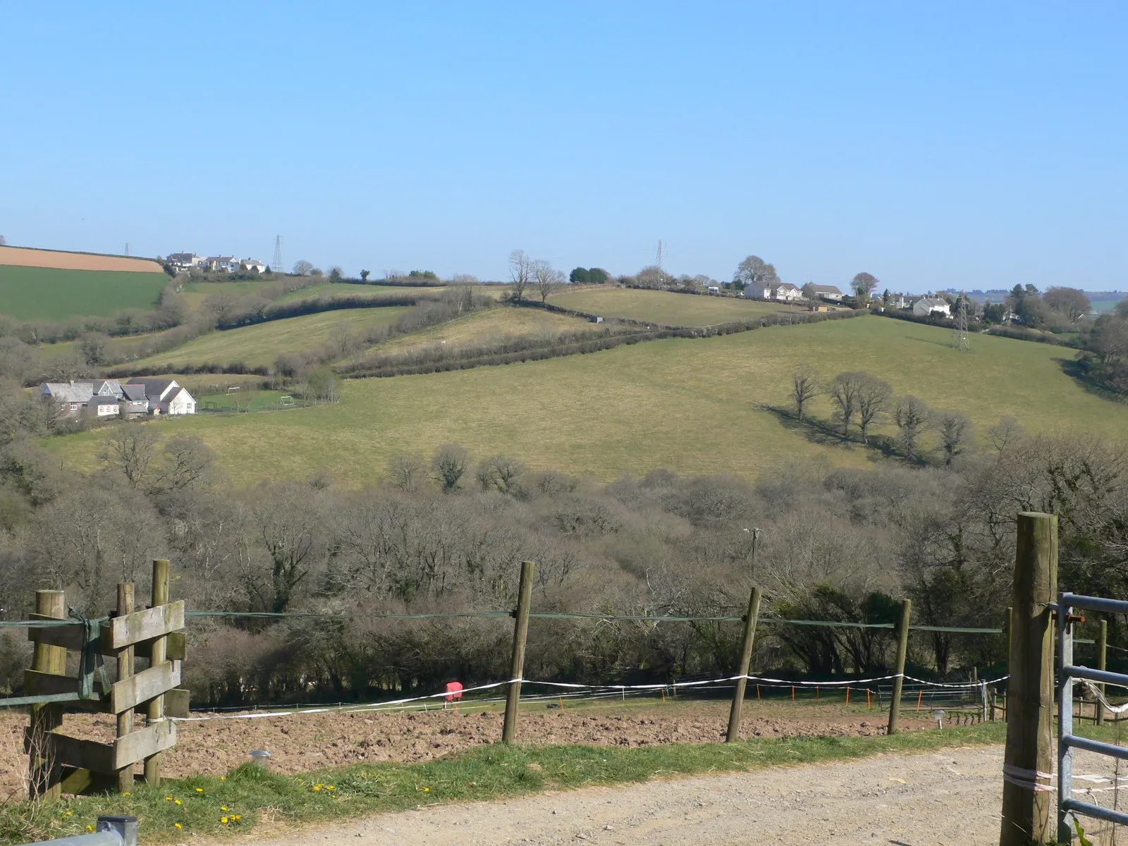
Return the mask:
{"type": "MultiPolygon", "coordinates": [[[[476,458],[504,451],[534,467],[603,479],[654,467],[754,476],[795,456],[867,464],[865,448],[812,440],[761,407],[787,402],[790,373],[805,362],[827,377],[869,370],[898,393],[960,408],[980,428],[1013,414],[1029,431],[1128,431],[1128,405],[1094,396],[1061,372],[1056,359],[1068,351],[977,335],[970,351],[958,352],[949,337],[946,329],[880,317],[778,326],[526,364],[350,380],[335,406],[165,425],[202,438],[244,482],[303,478],[324,467],[362,484],[382,475],[390,456],[430,453],[446,441],[476,458]]],[[[829,416],[825,398],[814,413],[829,416]]],[[[888,422],[882,428],[889,431],[888,422]]],[[[68,435],[49,447],[89,470],[97,467],[100,438],[68,435]]]]}

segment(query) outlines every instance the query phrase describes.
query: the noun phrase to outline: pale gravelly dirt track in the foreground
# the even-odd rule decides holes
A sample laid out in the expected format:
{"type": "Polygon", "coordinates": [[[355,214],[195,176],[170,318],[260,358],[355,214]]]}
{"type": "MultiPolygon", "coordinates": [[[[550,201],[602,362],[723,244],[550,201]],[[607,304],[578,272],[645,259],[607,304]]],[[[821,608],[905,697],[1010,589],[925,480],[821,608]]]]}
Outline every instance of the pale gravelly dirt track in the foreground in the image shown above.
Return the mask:
{"type": "Polygon", "coordinates": [[[256,846],[998,843],[1002,747],[435,805],[256,846]]]}

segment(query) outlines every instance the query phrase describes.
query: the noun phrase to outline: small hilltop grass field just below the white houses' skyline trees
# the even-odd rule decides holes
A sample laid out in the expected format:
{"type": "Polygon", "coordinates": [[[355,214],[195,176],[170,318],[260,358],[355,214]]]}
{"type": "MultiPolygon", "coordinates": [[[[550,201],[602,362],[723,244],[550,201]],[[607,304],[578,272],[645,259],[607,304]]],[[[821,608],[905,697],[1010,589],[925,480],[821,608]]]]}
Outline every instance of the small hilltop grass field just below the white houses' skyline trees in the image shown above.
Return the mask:
{"type": "Polygon", "coordinates": [[[695,297],[687,293],[643,291],[633,288],[565,291],[550,297],[549,302],[603,317],[653,320],[671,326],[712,326],[787,310],[787,306],[783,303],[756,302],[735,297],[695,297]]]}

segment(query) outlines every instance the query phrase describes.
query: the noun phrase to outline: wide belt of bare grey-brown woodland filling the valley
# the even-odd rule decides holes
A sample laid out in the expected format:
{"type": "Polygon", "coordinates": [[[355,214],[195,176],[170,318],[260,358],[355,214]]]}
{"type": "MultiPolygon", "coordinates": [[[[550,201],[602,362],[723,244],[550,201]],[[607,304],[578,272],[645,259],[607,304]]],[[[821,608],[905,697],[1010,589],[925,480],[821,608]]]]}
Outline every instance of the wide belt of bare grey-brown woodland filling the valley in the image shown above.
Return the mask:
{"type": "MultiPolygon", "coordinates": [[[[325,474],[238,487],[208,449],[160,425],[104,434],[102,469],[80,475],[27,437],[0,448],[0,608],[30,609],[62,588],[102,614],[118,581],[144,591],[149,563],[174,561],[174,594],[194,610],[328,614],[195,617],[187,684],[199,703],[431,691],[453,676],[504,677],[505,618],[386,619],[380,614],[506,610],[520,562],[537,562],[535,608],[587,615],[739,616],[755,582],[764,614],[997,627],[1007,605],[1015,514],[1061,519],[1060,583],[1128,590],[1128,460],[1122,446],[1031,438],[1002,421],[946,461],[944,426],[918,399],[892,405],[906,452],[869,469],[787,460],[756,482],[640,468],[609,484],[535,469],[511,455],[444,444],[396,456],[380,484],[325,474]],[[933,425],[929,423],[929,425],[933,425]],[[752,529],[760,529],[752,558],[752,529]],[[355,616],[350,616],[355,615],[355,616]]],[[[856,413],[855,413],[856,417],[856,413]]],[[[855,425],[857,423],[855,422],[855,425]]],[[[734,444],[734,448],[741,448],[734,444]]],[[[1114,629],[1114,637],[1120,633],[1114,629]]],[[[0,686],[18,689],[27,642],[0,635],[0,686]]],[[[23,633],[19,633],[20,635],[23,633]]],[[[731,671],[739,625],[536,619],[528,675],[571,681],[669,680],[731,671]]],[[[760,671],[839,677],[884,671],[888,629],[765,626],[760,671]]],[[[1002,638],[914,635],[916,675],[986,670],[1002,638]],[[963,670],[961,670],[963,668],[963,670]]]]}

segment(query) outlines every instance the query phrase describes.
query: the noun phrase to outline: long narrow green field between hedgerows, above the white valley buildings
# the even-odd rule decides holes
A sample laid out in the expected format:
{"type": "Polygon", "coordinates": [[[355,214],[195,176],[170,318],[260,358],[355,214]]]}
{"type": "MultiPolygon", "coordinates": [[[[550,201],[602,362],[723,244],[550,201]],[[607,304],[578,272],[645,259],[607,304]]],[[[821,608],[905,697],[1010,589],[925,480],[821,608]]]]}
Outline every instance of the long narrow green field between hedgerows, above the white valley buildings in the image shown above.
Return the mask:
{"type": "Polygon", "coordinates": [[[140,359],[135,364],[139,368],[233,361],[271,364],[279,353],[301,352],[334,341],[342,326],[359,336],[373,326],[390,326],[406,310],[400,307],[341,309],[240,326],[202,335],[169,352],[140,359]]]}

